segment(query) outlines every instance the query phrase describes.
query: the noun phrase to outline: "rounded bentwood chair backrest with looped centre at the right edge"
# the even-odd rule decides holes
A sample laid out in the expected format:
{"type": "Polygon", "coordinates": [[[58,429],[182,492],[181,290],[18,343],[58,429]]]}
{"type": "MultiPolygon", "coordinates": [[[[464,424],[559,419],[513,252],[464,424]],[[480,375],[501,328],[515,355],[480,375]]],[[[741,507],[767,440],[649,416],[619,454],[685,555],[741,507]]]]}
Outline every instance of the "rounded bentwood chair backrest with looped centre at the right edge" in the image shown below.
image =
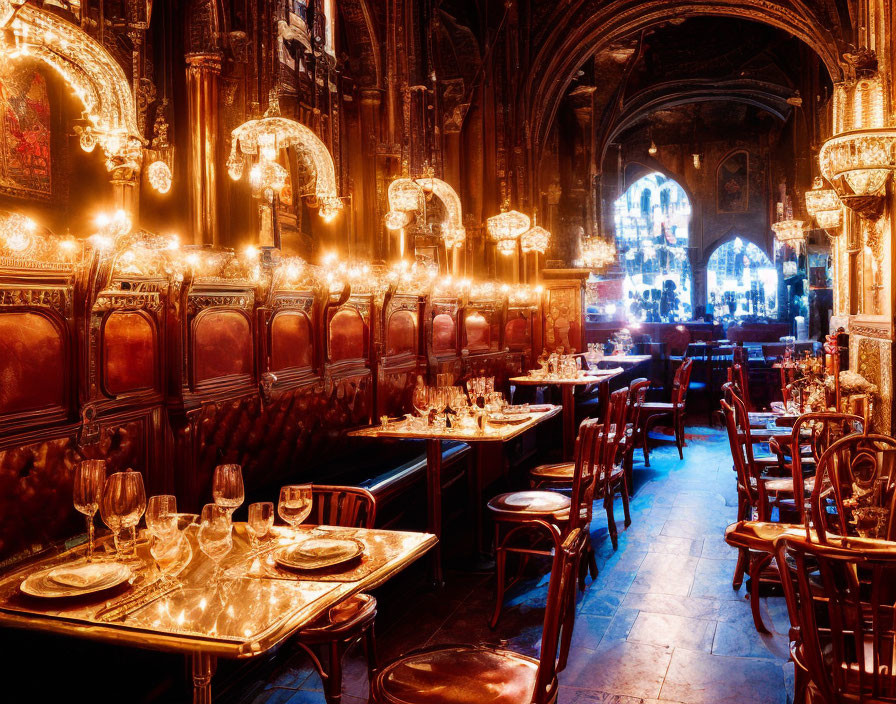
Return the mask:
{"type": "Polygon", "coordinates": [[[812,523],[828,535],[896,540],[896,439],[858,433],[835,441],[818,460],[812,523]]]}

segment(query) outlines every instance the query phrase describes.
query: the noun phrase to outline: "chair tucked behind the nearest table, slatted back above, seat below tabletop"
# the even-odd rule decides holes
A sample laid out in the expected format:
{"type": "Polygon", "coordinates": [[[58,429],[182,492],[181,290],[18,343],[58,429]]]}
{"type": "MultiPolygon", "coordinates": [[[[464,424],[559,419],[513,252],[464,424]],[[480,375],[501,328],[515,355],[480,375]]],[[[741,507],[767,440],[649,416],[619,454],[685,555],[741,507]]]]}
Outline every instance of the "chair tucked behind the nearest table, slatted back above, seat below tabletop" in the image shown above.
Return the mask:
{"type": "MultiPolygon", "coordinates": [[[[312,497],[309,520],[318,525],[373,528],[376,522],[376,499],[366,489],[315,484],[312,497]]],[[[330,608],[296,636],[296,643],[311,657],[323,681],[328,704],[342,700],[342,658],[353,644],[363,642],[368,674],[373,674],[376,606],[376,598],[370,594],[355,594],[330,608]],[[317,650],[327,654],[329,667],[324,666],[317,650]]]]}

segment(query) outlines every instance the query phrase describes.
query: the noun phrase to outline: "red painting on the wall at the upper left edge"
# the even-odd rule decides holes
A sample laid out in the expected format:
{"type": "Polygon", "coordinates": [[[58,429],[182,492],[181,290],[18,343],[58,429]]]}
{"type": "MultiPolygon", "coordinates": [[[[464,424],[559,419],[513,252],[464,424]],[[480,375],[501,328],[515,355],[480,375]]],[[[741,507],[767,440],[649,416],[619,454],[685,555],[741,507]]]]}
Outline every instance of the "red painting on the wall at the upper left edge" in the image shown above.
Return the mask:
{"type": "Polygon", "coordinates": [[[50,99],[47,81],[36,70],[0,78],[0,190],[49,197],[50,99]]]}

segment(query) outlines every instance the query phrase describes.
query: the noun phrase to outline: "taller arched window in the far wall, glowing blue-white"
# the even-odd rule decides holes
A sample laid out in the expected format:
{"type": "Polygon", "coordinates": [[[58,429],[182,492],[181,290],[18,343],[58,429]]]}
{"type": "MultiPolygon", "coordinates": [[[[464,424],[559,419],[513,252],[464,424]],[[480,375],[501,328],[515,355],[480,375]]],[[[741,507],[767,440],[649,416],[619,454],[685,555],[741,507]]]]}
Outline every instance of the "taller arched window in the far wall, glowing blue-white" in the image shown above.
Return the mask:
{"type": "Polygon", "coordinates": [[[684,189],[661,173],[633,183],[614,204],[616,250],[625,278],[622,306],[629,321],[675,322],[692,317],[684,189]]]}

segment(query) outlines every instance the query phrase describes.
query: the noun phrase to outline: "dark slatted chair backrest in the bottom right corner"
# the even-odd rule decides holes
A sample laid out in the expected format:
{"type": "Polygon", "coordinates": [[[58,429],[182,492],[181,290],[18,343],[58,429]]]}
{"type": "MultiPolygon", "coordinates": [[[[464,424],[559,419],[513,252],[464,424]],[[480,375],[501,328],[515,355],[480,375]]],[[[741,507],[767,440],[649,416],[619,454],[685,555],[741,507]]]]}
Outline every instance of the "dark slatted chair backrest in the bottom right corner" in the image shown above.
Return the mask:
{"type": "Polygon", "coordinates": [[[799,659],[820,700],[896,701],[896,546],[782,536],[775,551],[799,659]]]}

